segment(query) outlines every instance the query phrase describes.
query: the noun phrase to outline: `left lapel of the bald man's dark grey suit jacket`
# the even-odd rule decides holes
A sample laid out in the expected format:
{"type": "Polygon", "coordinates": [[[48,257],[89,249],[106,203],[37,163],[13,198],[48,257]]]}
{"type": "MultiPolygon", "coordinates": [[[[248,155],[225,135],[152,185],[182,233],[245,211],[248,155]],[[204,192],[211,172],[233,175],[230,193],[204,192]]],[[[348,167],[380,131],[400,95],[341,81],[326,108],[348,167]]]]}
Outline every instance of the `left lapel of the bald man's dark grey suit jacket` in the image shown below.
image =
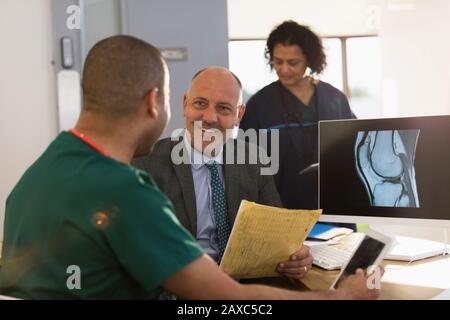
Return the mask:
{"type": "MultiPolygon", "coordinates": [[[[179,143],[174,141],[172,148],[175,144],[179,143]]],[[[189,219],[191,230],[189,230],[194,236],[197,234],[197,205],[195,200],[195,189],[194,189],[194,179],[192,177],[192,169],[189,161],[187,159],[187,152],[183,147],[183,163],[173,164],[172,166],[175,170],[175,174],[178,178],[181,192],[183,193],[184,207],[186,208],[186,215],[189,219]]]]}

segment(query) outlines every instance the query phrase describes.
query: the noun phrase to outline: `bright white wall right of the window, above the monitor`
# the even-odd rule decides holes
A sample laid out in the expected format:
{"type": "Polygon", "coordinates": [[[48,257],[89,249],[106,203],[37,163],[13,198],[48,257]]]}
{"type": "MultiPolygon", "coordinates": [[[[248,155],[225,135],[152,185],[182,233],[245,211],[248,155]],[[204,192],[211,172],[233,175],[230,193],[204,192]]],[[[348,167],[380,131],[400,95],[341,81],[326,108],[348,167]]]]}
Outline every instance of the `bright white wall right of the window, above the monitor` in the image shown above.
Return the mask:
{"type": "Polygon", "coordinates": [[[450,114],[450,1],[407,3],[380,6],[383,115],[450,114]]]}

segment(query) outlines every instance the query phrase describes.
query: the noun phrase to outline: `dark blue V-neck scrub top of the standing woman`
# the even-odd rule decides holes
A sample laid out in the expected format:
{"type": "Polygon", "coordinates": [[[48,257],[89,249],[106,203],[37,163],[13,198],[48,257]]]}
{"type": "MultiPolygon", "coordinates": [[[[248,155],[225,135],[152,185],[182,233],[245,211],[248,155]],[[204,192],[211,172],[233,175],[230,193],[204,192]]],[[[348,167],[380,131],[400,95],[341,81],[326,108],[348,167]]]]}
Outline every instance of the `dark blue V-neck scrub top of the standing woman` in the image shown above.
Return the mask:
{"type": "Polygon", "coordinates": [[[318,162],[318,121],[352,118],[355,115],[346,96],[326,82],[319,81],[309,105],[305,106],[275,81],[250,98],[240,127],[279,129],[280,168],[274,178],[283,205],[291,209],[317,209],[318,172],[299,173],[318,162]]]}

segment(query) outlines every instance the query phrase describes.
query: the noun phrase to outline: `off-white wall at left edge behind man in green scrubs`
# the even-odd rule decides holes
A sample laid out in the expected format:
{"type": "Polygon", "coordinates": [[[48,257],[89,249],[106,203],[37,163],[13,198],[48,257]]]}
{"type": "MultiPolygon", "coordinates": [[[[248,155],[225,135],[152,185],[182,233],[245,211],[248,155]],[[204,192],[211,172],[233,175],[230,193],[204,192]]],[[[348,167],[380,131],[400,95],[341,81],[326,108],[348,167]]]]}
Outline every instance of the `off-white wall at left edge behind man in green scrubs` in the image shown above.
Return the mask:
{"type": "Polygon", "coordinates": [[[50,0],[0,1],[0,239],[6,197],[57,133],[50,0]]]}

